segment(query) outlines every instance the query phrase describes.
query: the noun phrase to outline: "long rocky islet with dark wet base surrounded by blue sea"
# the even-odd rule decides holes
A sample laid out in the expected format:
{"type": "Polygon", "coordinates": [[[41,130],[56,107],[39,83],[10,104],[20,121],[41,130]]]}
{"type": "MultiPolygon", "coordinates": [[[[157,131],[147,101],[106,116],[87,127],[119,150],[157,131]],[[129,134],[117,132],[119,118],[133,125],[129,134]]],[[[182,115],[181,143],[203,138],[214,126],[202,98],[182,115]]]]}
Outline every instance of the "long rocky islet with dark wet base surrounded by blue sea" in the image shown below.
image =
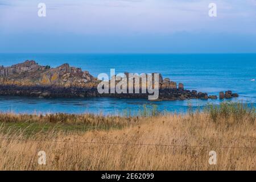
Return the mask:
{"type": "MultiPolygon", "coordinates": [[[[26,60],[10,67],[0,67],[0,96],[147,98],[149,95],[149,93],[141,92],[100,94],[97,90],[100,82],[101,80],[97,80],[88,71],[71,67],[67,63],[51,68],[48,65],[39,65],[34,60],[26,60]]],[[[219,94],[220,99],[232,97],[238,97],[238,94],[232,93],[231,90],[219,94]]],[[[217,96],[208,96],[207,93],[197,92],[197,90],[184,89],[182,83],[176,84],[170,78],[163,78],[159,74],[158,100],[186,99],[215,100],[217,96]]]]}

